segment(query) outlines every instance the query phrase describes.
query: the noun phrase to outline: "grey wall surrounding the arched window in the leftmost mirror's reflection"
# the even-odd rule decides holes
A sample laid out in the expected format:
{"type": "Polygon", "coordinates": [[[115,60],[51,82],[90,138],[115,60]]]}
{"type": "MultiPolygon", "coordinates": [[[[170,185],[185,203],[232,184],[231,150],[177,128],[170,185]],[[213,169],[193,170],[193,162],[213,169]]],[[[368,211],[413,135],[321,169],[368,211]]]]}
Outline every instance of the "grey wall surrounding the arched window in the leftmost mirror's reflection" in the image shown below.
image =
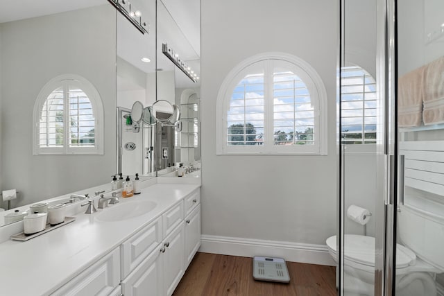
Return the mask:
{"type": "Polygon", "coordinates": [[[2,185],[21,192],[19,204],[110,182],[116,157],[115,13],[106,4],[1,25],[2,185]],[[83,76],[99,91],[105,155],[33,155],[35,99],[62,73],[83,76]]]}

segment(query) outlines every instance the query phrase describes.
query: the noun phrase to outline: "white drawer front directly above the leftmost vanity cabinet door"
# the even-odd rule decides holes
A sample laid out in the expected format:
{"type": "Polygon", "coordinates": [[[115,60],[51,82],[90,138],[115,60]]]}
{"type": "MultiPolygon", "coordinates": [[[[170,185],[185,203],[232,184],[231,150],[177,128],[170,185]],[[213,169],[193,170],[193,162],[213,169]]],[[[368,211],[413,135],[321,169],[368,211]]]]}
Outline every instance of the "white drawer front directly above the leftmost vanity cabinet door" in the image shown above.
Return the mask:
{"type": "Polygon", "coordinates": [[[162,241],[162,219],[144,227],[120,246],[121,278],[125,279],[162,241]]]}

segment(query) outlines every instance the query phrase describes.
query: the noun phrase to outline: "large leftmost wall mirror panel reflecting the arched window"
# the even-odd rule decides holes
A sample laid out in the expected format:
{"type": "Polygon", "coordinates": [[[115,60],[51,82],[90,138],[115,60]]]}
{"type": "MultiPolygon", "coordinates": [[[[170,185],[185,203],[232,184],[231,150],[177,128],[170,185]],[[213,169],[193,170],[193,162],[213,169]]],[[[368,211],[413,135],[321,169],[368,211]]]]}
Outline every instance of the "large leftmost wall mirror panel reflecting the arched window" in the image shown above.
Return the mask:
{"type": "Polygon", "coordinates": [[[0,180],[2,190],[18,191],[12,207],[110,182],[116,168],[116,13],[106,0],[3,1],[0,180]],[[56,77],[60,87],[49,91],[34,118],[37,97],[56,77]],[[96,90],[103,110],[91,107],[76,77],[96,90]],[[83,153],[96,144],[95,153],[83,153]],[[46,153],[46,147],[56,148],[46,153]]]}

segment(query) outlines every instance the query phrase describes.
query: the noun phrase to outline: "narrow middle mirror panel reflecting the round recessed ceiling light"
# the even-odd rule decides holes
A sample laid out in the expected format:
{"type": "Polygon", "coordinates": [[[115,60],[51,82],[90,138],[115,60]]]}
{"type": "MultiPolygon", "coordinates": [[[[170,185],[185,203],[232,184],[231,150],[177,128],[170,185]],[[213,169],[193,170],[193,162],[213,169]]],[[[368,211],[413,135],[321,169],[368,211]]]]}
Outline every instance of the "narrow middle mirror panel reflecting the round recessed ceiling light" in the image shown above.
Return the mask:
{"type": "MultiPolygon", "coordinates": [[[[152,177],[153,127],[144,119],[146,108],[155,102],[155,0],[133,0],[149,28],[142,34],[117,14],[117,168],[116,173],[152,177]],[[138,102],[138,103],[137,103],[138,102]],[[124,116],[131,114],[127,121],[124,116]],[[130,147],[131,149],[127,149],[130,147]]],[[[148,117],[147,117],[148,118],[148,117]]]]}

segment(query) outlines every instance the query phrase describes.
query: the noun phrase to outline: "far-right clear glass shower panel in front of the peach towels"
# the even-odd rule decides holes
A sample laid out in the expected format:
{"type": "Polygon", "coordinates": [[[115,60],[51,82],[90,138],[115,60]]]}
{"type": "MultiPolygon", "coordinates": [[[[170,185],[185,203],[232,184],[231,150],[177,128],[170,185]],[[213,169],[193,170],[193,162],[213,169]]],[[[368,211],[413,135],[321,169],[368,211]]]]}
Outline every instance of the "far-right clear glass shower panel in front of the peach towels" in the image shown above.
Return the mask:
{"type": "Polygon", "coordinates": [[[444,1],[396,1],[396,295],[444,295],[444,1]]]}

